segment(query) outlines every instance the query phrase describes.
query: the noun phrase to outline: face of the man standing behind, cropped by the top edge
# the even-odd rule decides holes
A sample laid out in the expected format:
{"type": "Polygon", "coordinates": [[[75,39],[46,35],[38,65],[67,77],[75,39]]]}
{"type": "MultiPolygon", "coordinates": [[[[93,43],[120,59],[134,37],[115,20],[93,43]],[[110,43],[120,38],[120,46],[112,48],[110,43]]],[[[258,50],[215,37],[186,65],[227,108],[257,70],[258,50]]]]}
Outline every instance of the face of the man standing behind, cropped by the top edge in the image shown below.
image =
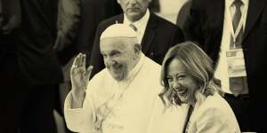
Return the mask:
{"type": "Polygon", "coordinates": [[[146,13],[150,0],[117,0],[127,18],[132,21],[140,20],[146,13]]]}

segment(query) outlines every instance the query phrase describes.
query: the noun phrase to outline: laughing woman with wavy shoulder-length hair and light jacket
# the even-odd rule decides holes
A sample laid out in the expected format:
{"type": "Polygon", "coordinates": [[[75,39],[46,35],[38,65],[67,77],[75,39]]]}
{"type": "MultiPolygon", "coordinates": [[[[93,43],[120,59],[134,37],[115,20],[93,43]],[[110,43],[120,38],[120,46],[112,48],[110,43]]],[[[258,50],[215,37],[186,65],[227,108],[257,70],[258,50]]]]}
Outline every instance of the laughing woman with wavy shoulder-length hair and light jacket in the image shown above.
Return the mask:
{"type": "Polygon", "coordinates": [[[163,61],[160,98],[164,105],[190,105],[183,132],[239,133],[239,124],[228,103],[220,96],[212,60],[195,43],[171,48],[163,61]]]}

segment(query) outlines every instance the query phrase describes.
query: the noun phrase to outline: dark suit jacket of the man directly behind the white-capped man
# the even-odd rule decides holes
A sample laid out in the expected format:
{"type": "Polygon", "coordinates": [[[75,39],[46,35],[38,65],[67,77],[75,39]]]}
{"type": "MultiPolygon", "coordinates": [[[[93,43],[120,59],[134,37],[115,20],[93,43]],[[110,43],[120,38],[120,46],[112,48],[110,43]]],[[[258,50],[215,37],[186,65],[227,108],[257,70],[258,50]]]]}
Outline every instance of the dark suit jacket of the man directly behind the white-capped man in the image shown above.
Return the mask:
{"type": "MultiPolygon", "coordinates": [[[[118,23],[123,23],[123,20],[124,15],[120,14],[108,20],[104,20],[99,24],[94,38],[93,50],[90,58],[90,65],[93,66],[92,76],[105,67],[100,53],[101,33],[110,25],[115,24],[116,21],[118,23]]],[[[183,34],[181,28],[175,26],[167,20],[158,17],[154,13],[150,13],[150,19],[141,43],[142,52],[147,57],[154,60],[158,64],[161,64],[166,51],[168,51],[168,49],[174,44],[182,42],[183,34]]]]}

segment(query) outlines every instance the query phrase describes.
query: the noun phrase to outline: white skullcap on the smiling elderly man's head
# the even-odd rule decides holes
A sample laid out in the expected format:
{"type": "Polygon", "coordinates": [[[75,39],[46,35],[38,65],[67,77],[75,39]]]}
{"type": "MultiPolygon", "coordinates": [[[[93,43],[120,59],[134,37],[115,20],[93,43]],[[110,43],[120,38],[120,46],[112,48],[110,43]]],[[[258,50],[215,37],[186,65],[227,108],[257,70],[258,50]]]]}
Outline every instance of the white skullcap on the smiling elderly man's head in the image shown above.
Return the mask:
{"type": "Polygon", "coordinates": [[[102,32],[100,40],[109,37],[137,37],[137,35],[132,27],[124,24],[113,24],[102,32]]]}

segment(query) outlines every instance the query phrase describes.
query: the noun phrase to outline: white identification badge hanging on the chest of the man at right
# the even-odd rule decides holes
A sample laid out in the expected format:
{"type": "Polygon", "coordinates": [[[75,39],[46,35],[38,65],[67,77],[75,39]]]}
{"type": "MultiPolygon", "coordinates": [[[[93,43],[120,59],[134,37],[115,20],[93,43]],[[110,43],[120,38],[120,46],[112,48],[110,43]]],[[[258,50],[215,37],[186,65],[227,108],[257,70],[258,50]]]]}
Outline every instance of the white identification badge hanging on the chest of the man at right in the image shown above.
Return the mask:
{"type": "Polygon", "coordinates": [[[228,74],[230,77],[247,76],[242,49],[226,51],[228,74]]]}

